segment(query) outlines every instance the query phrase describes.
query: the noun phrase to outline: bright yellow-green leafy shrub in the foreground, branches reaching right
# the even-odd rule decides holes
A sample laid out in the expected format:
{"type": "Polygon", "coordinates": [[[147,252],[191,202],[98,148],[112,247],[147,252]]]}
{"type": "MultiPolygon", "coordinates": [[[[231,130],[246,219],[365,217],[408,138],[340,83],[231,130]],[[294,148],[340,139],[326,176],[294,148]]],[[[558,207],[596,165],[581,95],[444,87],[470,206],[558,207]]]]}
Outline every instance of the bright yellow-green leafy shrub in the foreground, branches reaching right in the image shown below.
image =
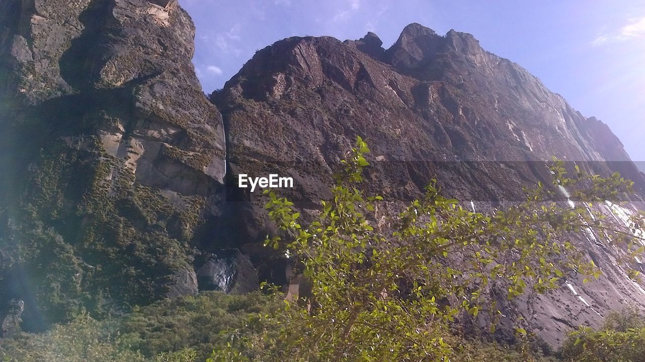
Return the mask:
{"type": "MultiPolygon", "coordinates": [[[[502,312],[509,300],[554,289],[573,272],[599,278],[575,246],[579,234],[595,229],[619,247],[623,262],[645,250],[633,233],[588,207],[631,191],[618,174],[600,178],[576,167],[568,177],[555,160],[552,184],[527,189],[525,202],[491,215],[463,209],[432,182],[423,198],[388,219],[379,213],[382,198],[356,187],[368,152],[358,138],[333,198],[309,224],[299,222],[292,202],[268,192],[269,215],[286,237],[266,243],[295,258],[310,291],[288,295],[278,314],[261,318],[278,326],[277,336],[242,334],[216,361],[447,361],[458,321],[488,324],[495,334],[502,319],[515,317],[502,312]],[[561,187],[581,206],[562,200],[561,187]]],[[[521,325],[515,332],[527,335],[521,325]]]]}

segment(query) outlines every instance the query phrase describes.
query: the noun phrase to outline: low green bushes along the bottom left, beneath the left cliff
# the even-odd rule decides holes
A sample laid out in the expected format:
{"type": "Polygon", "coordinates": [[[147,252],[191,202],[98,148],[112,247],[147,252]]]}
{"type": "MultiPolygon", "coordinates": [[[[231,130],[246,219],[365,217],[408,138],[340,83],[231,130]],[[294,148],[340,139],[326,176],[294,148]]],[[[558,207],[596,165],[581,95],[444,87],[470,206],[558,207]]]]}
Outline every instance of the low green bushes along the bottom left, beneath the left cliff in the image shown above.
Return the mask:
{"type": "Polygon", "coordinates": [[[232,331],[248,330],[253,316],[270,313],[276,304],[259,292],[204,292],[135,308],[120,318],[97,321],[83,314],[43,334],[0,339],[0,357],[12,362],[204,361],[226,346],[232,331]]]}

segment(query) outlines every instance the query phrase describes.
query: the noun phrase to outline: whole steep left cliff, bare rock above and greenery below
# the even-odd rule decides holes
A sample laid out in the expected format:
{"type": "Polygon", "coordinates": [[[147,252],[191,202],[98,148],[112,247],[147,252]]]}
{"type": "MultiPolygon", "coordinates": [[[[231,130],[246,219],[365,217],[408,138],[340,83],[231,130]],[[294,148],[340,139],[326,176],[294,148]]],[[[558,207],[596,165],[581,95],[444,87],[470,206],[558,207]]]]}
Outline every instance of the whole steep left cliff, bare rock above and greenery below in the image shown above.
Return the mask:
{"type": "Polygon", "coordinates": [[[197,291],[221,115],[176,0],[0,4],[0,305],[28,328],[197,291]]]}

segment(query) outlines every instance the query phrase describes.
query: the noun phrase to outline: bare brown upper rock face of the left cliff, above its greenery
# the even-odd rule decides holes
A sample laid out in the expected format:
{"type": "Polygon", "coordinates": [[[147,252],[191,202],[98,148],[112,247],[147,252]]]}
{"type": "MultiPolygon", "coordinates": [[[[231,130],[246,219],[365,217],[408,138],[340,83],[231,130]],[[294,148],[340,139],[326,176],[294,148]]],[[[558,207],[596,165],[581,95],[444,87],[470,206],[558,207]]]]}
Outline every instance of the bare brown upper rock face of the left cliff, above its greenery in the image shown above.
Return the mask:
{"type": "Polygon", "coordinates": [[[48,126],[63,118],[96,137],[110,156],[132,155],[131,171],[146,166],[137,175],[142,184],[184,194],[204,194],[199,183],[207,179],[221,184],[221,116],[195,77],[194,27],[175,1],[163,7],[143,0],[14,3],[5,7],[19,8],[19,24],[5,28],[3,44],[14,78],[8,84],[14,92],[6,96],[14,100],[10,109],[40,106],[48,126]],[[55,106],[62,109],[52,112],[55,106]],[[176,166],[157,169],[155,162],[176,166]],[[199,180],[178,186],[178,176],[199,180]]]}

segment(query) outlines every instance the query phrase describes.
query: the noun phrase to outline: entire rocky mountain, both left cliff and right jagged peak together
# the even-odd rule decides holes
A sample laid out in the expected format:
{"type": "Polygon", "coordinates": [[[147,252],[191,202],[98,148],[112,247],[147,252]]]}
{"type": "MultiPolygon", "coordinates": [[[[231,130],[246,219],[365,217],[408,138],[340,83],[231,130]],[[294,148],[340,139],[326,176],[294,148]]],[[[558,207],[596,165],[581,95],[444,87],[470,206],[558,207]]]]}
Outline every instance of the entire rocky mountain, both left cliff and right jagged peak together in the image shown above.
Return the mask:
{"type": "MultiPolygon", "coordinates": [[[[0,317],[24,300],[36,330],[198,289],[297,287],[262,247],[263,199],[235,176],[292,176],[285,195],[315,213],[357,135],[373,150],[364,187],[392,206],[431,178],[477,211],[510,204],[553,155],[645,190],[606,124],[470,34],[410,24],[388,49],[373,33],[284,39],[210,102],[193,38],[176,0],[0,4],[0,317]]],[[[549,343],[645,307],[610,251],[581,245],[605,278],[508,306],[549,343]]]]}

